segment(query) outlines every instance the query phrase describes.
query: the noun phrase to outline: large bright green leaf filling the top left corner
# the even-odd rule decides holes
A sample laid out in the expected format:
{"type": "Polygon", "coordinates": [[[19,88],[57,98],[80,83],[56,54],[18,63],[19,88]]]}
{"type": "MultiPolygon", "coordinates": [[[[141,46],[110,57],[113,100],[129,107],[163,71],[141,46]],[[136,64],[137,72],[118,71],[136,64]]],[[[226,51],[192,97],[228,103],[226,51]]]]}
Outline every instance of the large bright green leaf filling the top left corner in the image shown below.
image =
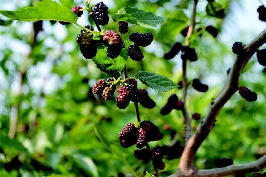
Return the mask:
{"type": "Polygon", "coordinates": [[[55,20],[76,23],[78,19],[69,8],[51,0],[37,2],[36,6],[16,11],[1,10],[0,13],[8,18],[21,21],[55,20]]]}

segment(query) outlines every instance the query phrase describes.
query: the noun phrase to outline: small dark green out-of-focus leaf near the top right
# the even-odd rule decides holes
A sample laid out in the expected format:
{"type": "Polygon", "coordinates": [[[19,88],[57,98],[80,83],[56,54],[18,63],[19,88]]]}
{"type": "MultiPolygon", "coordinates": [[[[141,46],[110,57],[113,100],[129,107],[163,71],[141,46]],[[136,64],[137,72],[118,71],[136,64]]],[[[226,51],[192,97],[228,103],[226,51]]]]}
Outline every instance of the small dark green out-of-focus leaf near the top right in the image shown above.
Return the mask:
{"type": "Polygon", "coordinates": [[[217,2],[209,2],[206,6],[206,13],[209,16],[214,16],[222,19],[225,17],[224,6],[217,2]]]}

